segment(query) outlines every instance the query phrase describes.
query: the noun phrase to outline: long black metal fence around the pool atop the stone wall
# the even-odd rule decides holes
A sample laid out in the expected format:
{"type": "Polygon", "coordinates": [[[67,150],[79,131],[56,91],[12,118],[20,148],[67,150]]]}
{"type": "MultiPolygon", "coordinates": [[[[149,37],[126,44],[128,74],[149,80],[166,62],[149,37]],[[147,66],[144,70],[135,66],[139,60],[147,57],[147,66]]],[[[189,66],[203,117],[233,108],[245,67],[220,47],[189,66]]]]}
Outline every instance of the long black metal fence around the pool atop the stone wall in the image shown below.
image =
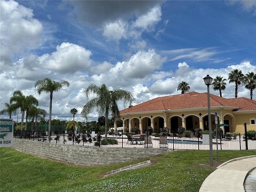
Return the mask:
{"type": "MultiPolygon", "coordinates": [[[[14,138],[69,144],[80,146],[118,147],[118,148],[166,148],[168,150],[210,150],[209,134],[155,134],[128,133],[112,131],[107,133],[94,131],[14,131],[14,138]],[[50,134],[50,135],[49,135],[50,134]],[[49,137],[50,136],[50,137],[49,137]],[[49,140],[50,138],[50,140],[49,140]]],[[[213,150],[256,150],[256,136],[245,137],[244,134],[212,135],[213,150]]]]}

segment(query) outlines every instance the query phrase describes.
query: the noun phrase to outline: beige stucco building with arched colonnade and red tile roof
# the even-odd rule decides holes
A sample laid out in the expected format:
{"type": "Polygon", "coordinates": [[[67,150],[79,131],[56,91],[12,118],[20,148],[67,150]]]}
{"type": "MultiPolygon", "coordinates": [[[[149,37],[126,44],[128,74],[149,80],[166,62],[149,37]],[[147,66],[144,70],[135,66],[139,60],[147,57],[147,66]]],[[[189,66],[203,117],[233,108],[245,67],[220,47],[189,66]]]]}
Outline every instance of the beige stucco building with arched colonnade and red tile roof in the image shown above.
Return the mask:
{"type": "MultiPolygon", "coordinates": [[[[228,124],[222,127],[224,132],[244,133],[244,123],[247,130],[256,130],[256,101],[248,98],[226,99],[210,94],[211,124],[215,129],[215,112],[218,124],[228,124]]],[[[129,131],[135,127],[142,132],[148,126],[159,132],[162,127],[177,131],[183,126],[186,130],[201,128],[208,130],[207,93],[190,92],[155,98],[144,103],[120,111],[123,129],[129,131]]]]}

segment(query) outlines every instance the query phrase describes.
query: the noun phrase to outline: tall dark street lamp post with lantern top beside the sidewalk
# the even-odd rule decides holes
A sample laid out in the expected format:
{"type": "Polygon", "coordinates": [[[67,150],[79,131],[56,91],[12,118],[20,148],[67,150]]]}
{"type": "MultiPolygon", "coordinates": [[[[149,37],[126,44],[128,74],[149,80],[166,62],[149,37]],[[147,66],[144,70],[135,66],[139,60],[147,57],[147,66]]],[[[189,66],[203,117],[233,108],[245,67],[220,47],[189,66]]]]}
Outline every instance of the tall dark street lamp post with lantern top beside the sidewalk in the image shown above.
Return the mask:
{"type": "Polygon", "coordinates": [[[207,101],[208,101],[208,128],[209,128],[209,140],[210,140],[210,165],[213,166],[213,152],[212,152],[212,123],[211,123],[211,110],[210,110],[210,89],[212,84],[212,78],[207,75],[204,78],[204,83],[207,85],[207,101]]]}

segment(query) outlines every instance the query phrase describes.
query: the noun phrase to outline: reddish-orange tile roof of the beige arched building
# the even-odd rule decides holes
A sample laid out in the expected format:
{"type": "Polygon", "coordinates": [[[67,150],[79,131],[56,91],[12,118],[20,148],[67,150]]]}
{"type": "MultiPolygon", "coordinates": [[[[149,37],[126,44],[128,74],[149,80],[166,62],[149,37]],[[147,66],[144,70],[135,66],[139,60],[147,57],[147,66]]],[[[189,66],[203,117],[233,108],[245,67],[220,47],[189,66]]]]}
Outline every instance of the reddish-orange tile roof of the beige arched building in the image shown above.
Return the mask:
{"type": "MultiPolygon", "coordinates": [[[[238,110],[256,110],[256,101],[247,98],[226,99],[210,94],[211,106],[228,106],[238,110]]],[[[120,114],[131,112],[179,110],[207,107],[207,93],[190,92],[186,94],[158,97],[131,108],[120,111],[120,114]]]]}

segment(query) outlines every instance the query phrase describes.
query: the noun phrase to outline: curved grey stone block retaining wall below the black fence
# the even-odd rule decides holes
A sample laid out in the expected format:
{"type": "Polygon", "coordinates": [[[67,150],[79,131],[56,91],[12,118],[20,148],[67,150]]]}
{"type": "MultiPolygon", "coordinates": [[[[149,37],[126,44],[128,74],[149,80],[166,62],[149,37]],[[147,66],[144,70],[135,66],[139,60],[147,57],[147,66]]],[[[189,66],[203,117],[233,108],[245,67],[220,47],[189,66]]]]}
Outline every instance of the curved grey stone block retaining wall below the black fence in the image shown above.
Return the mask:
{"type": "Polygon", "coordinates": [[[64,145],[17,138],[13,139],[12,148],[36,156],[84,166],[118,164],[167,152],[167,150],[152,148],[105,148],[64,145]]]}

